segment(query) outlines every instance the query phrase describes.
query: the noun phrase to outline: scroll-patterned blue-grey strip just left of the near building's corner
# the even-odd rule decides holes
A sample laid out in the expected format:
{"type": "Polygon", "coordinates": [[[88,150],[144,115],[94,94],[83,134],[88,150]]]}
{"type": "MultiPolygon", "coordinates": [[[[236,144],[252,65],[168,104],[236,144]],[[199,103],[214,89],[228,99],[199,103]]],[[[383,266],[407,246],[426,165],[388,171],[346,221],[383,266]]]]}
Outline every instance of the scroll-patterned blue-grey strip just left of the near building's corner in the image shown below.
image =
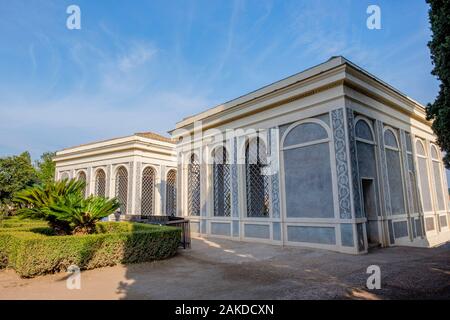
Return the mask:
{"type": "Polygon", "coordinates": [[[336,158],[336,173],[338,182],[339,215],[341,219],[351,219],[351,199],[348,156],[346,148],[344,109],[331,111],[333,140],[336,158]]]}

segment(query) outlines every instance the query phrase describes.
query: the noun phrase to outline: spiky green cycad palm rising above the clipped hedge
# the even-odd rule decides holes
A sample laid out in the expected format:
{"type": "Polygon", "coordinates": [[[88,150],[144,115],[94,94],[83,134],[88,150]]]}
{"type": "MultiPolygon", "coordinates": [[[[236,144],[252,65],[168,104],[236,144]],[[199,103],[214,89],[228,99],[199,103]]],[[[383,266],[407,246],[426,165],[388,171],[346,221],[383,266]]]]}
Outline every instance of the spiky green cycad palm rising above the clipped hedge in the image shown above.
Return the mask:
{"type": "Polygon", "coordinates": [[[56,234],[87,234],[95,231],[95,223],[114,213],[117,199],[98,196],[84,198],[84,181],[49,181],[17,193],[15,201],[24,218],[48,221],[56,234]]]}

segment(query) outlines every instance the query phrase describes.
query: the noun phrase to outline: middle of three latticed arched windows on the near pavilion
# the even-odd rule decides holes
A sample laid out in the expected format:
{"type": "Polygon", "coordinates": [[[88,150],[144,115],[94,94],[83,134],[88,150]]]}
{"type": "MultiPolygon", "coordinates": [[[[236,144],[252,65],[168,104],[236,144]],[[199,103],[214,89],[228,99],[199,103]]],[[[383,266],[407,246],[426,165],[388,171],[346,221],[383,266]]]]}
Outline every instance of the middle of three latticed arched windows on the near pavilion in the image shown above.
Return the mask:
{"type": "Polygon", "coordinates": [[[214,216],[229,217],[231,215],[231,177],[230,165],[227,163],[227,150],[224,147],[218,147],[212,156],[214,216]]]}

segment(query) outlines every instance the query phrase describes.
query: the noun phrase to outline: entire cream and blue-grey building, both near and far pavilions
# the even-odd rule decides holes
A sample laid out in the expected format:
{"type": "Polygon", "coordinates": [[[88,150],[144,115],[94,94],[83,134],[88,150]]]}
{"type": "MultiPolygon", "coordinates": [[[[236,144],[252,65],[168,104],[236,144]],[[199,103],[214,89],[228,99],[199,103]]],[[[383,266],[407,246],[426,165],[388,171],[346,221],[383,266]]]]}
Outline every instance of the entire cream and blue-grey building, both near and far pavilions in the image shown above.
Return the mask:
{"type": "Polygon", "coordinates": [[[176,170],[176,214],[199,236],[353,254],[450,240],[445,169],[425,108],[343,57],[170,133],[176,144],[135,135],[58,152],[57,176],[84,172],[93,193],[102,167],[106,194],[144,214],[141,180],[153,165],[155,209],[146,212],[164,215],[160,181],[176,170]]]}

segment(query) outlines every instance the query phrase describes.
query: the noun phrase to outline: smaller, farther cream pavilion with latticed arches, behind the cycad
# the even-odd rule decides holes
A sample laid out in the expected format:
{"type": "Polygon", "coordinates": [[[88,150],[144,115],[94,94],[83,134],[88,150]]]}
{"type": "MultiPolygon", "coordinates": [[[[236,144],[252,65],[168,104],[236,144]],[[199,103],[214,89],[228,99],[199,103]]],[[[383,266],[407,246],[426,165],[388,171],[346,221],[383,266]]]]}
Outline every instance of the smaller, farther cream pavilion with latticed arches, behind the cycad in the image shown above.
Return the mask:
{"type": "Polygon", "coordinates": [[[80,178],[81,174],[86,177],[87,195],[122,198],[126,203],[122,215],[166,214],[166,199],[172,196],[170,177],[176,177],[177,170],[174,144],[168,138],[139,133],[94,142],[57,152],[55,162],[56,179],[80,178]]]}

